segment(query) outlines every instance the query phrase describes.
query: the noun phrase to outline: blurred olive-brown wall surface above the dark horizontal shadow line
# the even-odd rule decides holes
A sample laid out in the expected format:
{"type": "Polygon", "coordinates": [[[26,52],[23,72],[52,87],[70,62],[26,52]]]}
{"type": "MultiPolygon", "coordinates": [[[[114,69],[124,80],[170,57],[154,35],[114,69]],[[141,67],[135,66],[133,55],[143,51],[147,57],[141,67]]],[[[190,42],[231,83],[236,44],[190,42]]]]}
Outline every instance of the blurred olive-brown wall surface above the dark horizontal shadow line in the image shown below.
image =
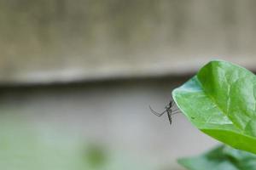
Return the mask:
{"type": "Polygon", "coordinates": [[[0,82],[196,71],[209,59],[254,69],[251,0],[3,0],[0,82]]]}

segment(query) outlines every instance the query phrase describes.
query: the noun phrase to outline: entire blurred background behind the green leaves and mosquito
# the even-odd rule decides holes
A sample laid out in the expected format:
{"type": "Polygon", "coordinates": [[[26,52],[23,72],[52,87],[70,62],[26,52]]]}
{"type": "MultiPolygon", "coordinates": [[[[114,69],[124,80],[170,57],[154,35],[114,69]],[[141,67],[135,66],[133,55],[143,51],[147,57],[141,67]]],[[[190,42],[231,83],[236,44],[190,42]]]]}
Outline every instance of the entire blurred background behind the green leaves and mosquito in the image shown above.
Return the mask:
{"type": "MultiPolygon", "coordinates": [[[[251,0],[0,1],[0,168],[183,170],[218,144],[163,111],[211,59],[255,71],[251,0]]],[[[191,104],[193,105],[193,104],[191,104]]]]}

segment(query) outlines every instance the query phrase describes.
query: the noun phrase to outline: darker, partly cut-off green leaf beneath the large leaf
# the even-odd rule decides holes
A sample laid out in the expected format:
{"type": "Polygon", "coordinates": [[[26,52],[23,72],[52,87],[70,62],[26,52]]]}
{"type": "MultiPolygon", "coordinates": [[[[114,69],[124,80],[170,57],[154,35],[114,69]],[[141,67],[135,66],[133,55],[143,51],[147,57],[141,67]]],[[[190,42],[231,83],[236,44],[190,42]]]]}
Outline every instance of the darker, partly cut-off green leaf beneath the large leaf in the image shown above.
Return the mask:
{"type": "Polygon", "coordinates": [[[256,155],[221,145],[201,156],[179,159],[178,163],[189,170],[255,170],[256,155]]]}

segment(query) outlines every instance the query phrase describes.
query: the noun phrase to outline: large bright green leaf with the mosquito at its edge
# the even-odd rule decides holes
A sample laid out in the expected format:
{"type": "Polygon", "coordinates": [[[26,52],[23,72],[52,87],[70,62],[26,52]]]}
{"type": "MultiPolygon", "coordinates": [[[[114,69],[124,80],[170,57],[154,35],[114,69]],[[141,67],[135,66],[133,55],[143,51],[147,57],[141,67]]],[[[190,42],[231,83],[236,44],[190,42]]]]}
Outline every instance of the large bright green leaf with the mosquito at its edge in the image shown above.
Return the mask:
{"type": "Polygon", "coordinates": [[[211,61],[172,92],[195,127],[236,149],[256,153],[256,77],[226,61],[211,61]]]}

